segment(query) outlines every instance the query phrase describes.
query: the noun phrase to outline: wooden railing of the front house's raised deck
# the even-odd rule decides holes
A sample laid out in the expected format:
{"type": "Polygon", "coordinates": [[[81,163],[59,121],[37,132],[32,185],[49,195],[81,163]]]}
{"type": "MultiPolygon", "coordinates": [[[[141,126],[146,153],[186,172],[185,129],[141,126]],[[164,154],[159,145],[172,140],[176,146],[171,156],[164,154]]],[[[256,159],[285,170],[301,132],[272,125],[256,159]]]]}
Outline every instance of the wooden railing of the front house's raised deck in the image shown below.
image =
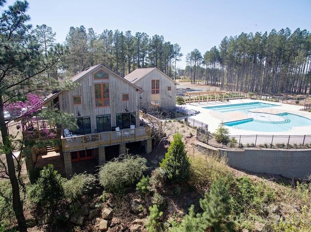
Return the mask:
{"type": "Polygon", "coordinates": [[[149,126],[140,126],[135,129],[107,131],[73,137],[61,137],[63,152],[86,150],[104,145],[116,145],[127,142],[142,141],[151,138],[149,126]]]}

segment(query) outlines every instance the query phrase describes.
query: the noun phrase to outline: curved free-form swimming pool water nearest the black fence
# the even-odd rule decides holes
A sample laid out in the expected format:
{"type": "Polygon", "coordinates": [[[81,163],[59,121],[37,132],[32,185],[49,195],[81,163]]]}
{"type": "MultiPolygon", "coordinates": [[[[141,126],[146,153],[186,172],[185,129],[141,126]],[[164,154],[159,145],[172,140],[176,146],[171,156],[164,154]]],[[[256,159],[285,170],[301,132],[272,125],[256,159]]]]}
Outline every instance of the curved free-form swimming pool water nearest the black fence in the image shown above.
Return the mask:
{"type": "Polygon", "coordinates": [[[264,132],[282,132],[292,129],[294,126],[307,126],[311,125],[311,120],[296,114],[280,113],[276,114],[282,116],[284,121],[258,121],[254,119],[244,119],[233,122],[224,123],[227,126],[233,126],[242,130],[254,130],[264,132]]]}

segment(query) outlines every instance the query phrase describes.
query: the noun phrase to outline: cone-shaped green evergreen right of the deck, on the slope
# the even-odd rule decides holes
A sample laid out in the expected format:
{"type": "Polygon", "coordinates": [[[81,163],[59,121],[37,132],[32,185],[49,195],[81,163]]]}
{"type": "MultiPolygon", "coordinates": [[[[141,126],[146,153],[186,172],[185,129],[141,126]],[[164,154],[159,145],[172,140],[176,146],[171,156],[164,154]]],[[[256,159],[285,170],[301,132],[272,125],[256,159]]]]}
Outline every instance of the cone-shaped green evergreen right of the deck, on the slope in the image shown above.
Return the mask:
{"type": "Polygon", "coordinates": [[[180,183],[188,180],[190,163],[185,151],[185,144],[180,134],[173,135],[173,142],[160,162],[160,167],[166,170],[168,180],[180,183]]]}

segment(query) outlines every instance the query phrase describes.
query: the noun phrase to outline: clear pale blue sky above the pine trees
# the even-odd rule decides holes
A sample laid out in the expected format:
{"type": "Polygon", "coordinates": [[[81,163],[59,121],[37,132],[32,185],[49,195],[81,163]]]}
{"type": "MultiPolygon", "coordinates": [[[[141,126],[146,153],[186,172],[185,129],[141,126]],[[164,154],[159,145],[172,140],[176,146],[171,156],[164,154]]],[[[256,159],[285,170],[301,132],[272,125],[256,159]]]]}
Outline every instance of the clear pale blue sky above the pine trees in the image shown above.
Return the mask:
{"type": "MultiPolygon", "coordinates": [[[[12,4],[14,0],[7,0],[12,4]]],[[[163,35],[184,54],[197,48],[202,55],[225,36],[242,32],[268,33],[288,27],[311,31],[311,0],[28,0],[30,23],[46,24],[59,43],[69,28],[93,28],[163,35]]]]}

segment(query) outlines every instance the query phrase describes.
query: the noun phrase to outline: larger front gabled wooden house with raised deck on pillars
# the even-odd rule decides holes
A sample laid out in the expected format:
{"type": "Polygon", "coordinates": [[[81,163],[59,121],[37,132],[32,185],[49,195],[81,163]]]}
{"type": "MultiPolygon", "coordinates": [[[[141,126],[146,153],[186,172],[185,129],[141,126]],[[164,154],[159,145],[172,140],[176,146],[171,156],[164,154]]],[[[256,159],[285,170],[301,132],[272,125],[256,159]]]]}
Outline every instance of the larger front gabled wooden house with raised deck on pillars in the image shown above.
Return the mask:
{"type": "MultiPolygon", "coordinates": [[[[76,131],[62,128],[60,136],[67,177],[76,172],[75,166],[83,167],[85,160],[98,166],[106,162],[108,153],[125,154],[129,144],[144,147],[146,153],[152,151],[150,128],[139,124],[141,88],[103,64],[89,67],[71,80],[79,85],[52,93],[45,100],[77,120],[76,131]]],[[[31,133],[25,138],[42,139],[42,133],[31,133]]]]}

